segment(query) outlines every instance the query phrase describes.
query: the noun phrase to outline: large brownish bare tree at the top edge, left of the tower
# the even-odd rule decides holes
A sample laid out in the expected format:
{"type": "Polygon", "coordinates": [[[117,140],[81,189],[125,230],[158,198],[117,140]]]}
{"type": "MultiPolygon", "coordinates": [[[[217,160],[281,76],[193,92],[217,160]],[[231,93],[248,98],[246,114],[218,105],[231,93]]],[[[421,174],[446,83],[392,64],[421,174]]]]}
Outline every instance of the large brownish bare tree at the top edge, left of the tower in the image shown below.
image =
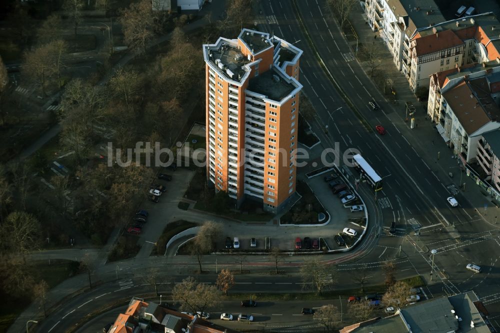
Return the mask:
{"type": "Polygon", "coordinates": [[[132,3],[121,10],[119,18],[125,43],[139,53],[145,53],[147,42],[153,37],[154,20],[150,0],[132,3]]]}

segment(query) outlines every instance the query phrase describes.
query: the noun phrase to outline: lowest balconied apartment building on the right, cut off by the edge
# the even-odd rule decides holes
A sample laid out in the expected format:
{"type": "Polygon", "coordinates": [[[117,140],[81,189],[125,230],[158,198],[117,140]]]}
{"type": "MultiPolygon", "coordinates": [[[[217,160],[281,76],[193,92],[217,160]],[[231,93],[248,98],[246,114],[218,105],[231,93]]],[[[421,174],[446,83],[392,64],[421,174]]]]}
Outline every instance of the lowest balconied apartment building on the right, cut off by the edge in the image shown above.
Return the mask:
{"type": "Polygon", "coordinates": [[[477,144],[477,164],[484,172],[483,180],[500,192],[500,130],[482,134],[477,144]]]}

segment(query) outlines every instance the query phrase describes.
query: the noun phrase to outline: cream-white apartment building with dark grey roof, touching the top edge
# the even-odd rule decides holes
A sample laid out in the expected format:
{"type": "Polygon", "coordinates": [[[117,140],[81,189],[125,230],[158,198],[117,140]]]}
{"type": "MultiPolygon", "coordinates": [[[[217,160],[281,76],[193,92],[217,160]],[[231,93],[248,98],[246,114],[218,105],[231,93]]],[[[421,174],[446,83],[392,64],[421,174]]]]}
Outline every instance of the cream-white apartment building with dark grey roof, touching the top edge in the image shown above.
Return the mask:
{"type": "Polygon", "coordinates": [[[410,40],[419,28],[444,21],[433,0],[367,0],[367,21],[378,31],[392,53],[392,61],[405,75],[409,73],[410,40]]]}

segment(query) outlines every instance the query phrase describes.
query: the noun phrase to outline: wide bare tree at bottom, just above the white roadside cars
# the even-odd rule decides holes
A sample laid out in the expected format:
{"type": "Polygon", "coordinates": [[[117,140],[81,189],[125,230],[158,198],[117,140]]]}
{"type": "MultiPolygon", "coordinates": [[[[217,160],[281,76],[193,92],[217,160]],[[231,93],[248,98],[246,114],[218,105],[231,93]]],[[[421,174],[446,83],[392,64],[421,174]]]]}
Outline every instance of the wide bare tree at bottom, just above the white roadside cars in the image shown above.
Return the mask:
{"type": "Polygon", "coordinates": [[[197,283],[192,276],[175,284],[172,290],[174,300],[180,302],[181,310],[193,313],[204,312],[218,304],[220,291],[215,285],[197,283]]]}

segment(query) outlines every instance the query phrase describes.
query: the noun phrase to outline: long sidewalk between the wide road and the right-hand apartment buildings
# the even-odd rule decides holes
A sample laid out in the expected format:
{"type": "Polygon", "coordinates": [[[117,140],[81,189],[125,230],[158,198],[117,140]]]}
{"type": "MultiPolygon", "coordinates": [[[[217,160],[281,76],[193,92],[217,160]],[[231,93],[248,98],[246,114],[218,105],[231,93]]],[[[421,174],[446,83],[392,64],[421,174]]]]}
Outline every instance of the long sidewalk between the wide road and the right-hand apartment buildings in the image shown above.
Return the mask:
{"type": "MultiPolygon", "coordinates": [[[[401,134],[408,138],[412,147],[422,157],[425,163],[429,166],[437,179],[441,180],[444,186],[451,192],[450,195],[462,194],[473,207],[482,215],[482,218],[487,222],[495,225],[495,216],[500,216],[500,208],[494,206],[491,202],[490,196],[485,196],[475,181],[467,177],[463,172],[460,181],[460,162],[453,156],[453,151],[442,140],[441,136],[434,128],[432,123],[427,118],[427,110],[424,105],[417,100],[413,92],[409,88],[409,83],[404,74],[399,72],[392,61],[392,55],[385,46],[382,38],[374,39],[376,35],[369,25],[364,21],[362,14],[363,10],[359,6],[355,6],[352,10],[349,20],[358,34],[359,40],[374,40],[379,43],[382,63],[377,68],[378,70],[385,71],[387,76],[392,80],[392,86],[396,89],[396,103],[392,103],[392,98],[385,98],[389,105],[389,109],[384,108],[385,113],[394,122],[394,124],[401,130],[401,134]],[[405,102],[411,101],[416,108],[415,118],[416,127],[410,128],[410,121],[405,121],[405,102]],[[451,172],[453,177],[450,178],[448,173],[451,172]],[[465,183],[465,191],[463,191],[463,184],[465,183]],[[457,193],[460,194],[457,194],[457,193]],[[484,205],[487,205],[486,215],[484,215],[484,205]]],[[[349,42],[351,48],[355,50],[356,41],[349,42]]],[[[369,68],[363,66],[365,73],[369,73],[369,68]]],[[[367,76],[369,76],[367,74],[367,76]]],[[[382,92],[380,91],[380,95],[382,92]]],[[[378,96],[377,96],[378,97],[378,96]]],[[[376,98],[377,99],[377,98],[376,98]]],[[[409,118],[409,116],[408,116],[409,118]]],[[[434,180],[434,179],[432,179],[434,180]]],[[[445,198],[443,197],[443,202],[445,198]]],[[[458,202],[460,199],[458,198],[458,202]]],[[[450,221],[451,222],[451,221],[450,221]]]]}

